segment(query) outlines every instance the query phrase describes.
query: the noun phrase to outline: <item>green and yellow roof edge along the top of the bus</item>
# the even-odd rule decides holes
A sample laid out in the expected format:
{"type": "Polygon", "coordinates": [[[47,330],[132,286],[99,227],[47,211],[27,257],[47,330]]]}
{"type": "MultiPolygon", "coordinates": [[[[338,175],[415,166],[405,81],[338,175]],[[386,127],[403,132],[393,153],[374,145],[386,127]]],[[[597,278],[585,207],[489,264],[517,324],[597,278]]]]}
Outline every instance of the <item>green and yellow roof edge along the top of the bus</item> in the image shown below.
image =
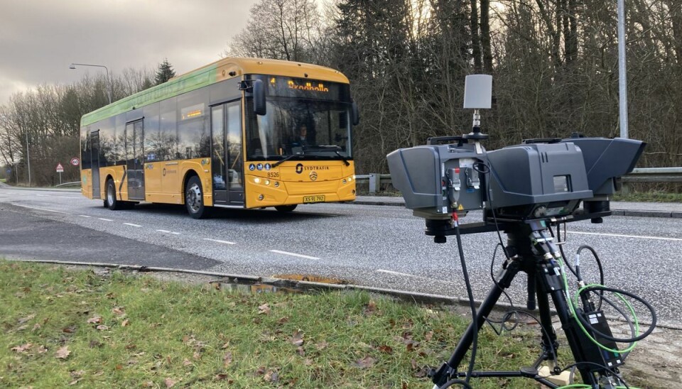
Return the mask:
{"type": "Polygon", "coordinates": [[[283,60],[227,57],[178,77],[173,77],[161,85],[131,94],[129,97],[103,106],[97,109],[97,111],[85,114],[80,121],[80,125],[87,126],[110,116],[160,102],[178,94],[206,87],[232,77],[256,74],[310,78],[311,80],[325,80],[348,84],[348,79],[345,75],[330,67],[283,60]]]}

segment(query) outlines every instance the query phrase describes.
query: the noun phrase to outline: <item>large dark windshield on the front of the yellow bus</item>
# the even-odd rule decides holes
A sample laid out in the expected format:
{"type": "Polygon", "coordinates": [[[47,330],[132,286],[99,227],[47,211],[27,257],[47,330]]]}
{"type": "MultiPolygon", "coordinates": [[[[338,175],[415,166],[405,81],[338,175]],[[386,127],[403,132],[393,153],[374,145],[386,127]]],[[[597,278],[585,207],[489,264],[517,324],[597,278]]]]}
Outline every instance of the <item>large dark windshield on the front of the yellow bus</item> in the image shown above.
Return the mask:
{"type": "Polygon", "coordinates": [[[249,105],[247,101],[248,160],[352,158],[350,104],[268,97],[264,116],[254,114],[249,105]]]}

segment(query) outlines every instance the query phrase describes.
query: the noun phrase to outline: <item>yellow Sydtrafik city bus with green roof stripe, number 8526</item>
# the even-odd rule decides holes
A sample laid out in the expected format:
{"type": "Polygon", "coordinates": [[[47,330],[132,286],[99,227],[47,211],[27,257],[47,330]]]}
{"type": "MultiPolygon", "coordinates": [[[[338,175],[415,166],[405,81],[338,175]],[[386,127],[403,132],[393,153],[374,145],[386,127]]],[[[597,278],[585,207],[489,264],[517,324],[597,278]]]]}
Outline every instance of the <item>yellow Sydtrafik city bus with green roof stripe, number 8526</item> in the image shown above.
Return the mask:
{"type": "Polygon", "coordinates": [[[112,210],[185,204],[195,219],[352,201],[357,121],[337,70],[224,58],[83,116],[82,194],[112,210]]]}

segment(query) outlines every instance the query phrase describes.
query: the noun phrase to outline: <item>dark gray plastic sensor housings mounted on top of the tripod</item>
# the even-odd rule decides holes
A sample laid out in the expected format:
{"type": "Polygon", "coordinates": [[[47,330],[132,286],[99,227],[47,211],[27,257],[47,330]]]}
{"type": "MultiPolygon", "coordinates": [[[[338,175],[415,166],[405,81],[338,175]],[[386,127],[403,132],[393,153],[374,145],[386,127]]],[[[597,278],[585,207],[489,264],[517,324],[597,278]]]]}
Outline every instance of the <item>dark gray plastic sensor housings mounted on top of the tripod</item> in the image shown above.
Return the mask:
{"type": "Polygon", "coordinates": [[[488,152],[479,146],[477,153],[474,144],[460,143],[402,148],[387,160],[394,187],[416,216],[445,219],[485,206],[504,219],[540,219],[572,214],[582,200],[607,199],[644,146],[568,138],[488,152]]]}

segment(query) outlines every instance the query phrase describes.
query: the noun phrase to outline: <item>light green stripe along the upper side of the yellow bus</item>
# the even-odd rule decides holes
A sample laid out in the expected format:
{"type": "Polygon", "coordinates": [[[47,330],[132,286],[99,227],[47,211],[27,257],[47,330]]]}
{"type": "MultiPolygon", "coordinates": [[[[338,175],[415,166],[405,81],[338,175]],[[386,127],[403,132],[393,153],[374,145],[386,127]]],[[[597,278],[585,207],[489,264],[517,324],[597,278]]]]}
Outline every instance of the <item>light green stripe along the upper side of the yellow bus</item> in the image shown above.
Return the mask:
{"type": "Polygon", "coordinates": [[[214,84],[217,80],[217,65],[203,67],[195,72],[188,73],[175,80],[168,81],[156,87],[151,87],[142,92],[132,94],[129,97],[120,99],[113,104],[103,106],[97,111],[85,114],[80,126],[87,126],[102,119],[130,111],[131,109],[142,108],[143,106],[160,102],[169,97],[177,96],[185,92],[191,92],[201,87],[214,84]]]}

